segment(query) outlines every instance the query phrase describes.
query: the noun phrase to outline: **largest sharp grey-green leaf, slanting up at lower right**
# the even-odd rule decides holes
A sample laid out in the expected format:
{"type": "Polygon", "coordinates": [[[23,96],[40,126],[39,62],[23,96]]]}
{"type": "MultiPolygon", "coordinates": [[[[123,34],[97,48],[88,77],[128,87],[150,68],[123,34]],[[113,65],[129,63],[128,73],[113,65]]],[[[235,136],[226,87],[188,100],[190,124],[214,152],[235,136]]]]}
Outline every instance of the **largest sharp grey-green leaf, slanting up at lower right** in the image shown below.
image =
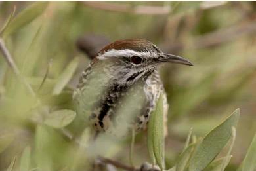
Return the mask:
{"type": "Polygon", "coordinates": [[[230,117],[203,138],[190,160],[190,171],[203,170],[215,159],[232,136],[232,127],[238,123],[239,116],[240,109],[236,109],[230,117]]]}

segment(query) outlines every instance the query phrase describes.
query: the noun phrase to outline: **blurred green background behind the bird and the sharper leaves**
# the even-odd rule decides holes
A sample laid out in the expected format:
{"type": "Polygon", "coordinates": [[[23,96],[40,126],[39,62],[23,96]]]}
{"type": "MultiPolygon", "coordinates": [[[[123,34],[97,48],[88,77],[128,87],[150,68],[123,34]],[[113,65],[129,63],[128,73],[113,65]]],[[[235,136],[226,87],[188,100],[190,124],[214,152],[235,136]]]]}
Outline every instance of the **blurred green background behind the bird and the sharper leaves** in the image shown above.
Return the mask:
{"type": "MultiPolygon", "coordinates": [[[[17,15],[32,3],[0,1],[0,28],[14,6],[17,15]]],[[[188,58],[194,67],[167,64],[160,68],[170,104],[167,166],[177,159],[190,128],[197,136],[204,136],[239,107],[242,115],[228,169],[238,166],[256,132],[254,1],[49,1],[45,7],[39,14],[28,11],[14,21],[19,23],[18,28],[9,24],[3,34],[16,65],[43,105],[40,111],[33,111],[38,107],[37,101],[28,96],[28,90],[0,54],[0,170],[7,168],[15,156],[17,163],[22,162],[20,156],[26,155],[22,153],[25,147],[32,151],[30,169],[88,167],[87,158],[77,155],[79,150],[74,143],[56,128],[33,122],[40,121],[40,113],[72,108],[68,103],[72,87],[90,61],[76,47],[77,39],[83,35],[100,35],[110,41],[148,39],[163,52],[188,58]],[[28,14],[37,17],[30,20],[28,14]],[[55,86],[58,90],[54,94],[54,85],[63,81],[67,66],[75,73],[66,75],[66,87],[55,86]],[[39,89],[45,73],[47,79],[39,89]],[[74,164],[77,156],[85,161],[74,164]]],[[[135,142],[136,165],[148,160],[145,143],[146,136],[141,134],[135,142]]],[[[129,140],[121,146],[112,157],[127,161],[129,140]]]]}

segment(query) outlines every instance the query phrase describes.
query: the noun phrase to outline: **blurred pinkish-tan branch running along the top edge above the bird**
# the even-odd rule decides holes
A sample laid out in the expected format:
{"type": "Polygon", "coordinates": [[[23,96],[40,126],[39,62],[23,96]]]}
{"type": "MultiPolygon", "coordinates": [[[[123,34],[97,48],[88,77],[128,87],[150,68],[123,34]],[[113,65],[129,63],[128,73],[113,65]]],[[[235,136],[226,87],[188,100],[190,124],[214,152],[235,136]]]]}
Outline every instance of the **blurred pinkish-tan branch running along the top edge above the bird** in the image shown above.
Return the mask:
{"type": "Polygon", "coordinates": [[[130,5],[130,4],[117,4],[108,3],[104,1],[83,1],[87,7],[95,9],[108,10],[112,12],[128,12],[133,14],[152,14],[163,15],[171,12],[171,6],[148,6],[148,5],[130,5]]]}

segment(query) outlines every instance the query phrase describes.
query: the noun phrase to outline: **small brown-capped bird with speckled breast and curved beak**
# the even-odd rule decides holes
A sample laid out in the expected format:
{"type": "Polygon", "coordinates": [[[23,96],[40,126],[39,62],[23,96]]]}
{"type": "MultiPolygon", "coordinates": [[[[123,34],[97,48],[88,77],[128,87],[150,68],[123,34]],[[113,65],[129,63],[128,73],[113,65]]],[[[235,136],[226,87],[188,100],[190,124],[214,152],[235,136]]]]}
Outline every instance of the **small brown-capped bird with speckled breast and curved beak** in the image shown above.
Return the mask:
{"type": "Polygon", "coordinates": [[[125,99],[133,94],[141,103],[136,104],[138,110],[129,125],[137,132],[146,129],[160,94],[167,115],[167,98],[157,71],[166,62],[193,66],[184,58],[161,52],[144,39],[110,43],[98,52],[79,78],[73,96],[77,113],[85,116],[85,122],[96,132],[105,132],[118,122],[117,110],[127,105],[125,99]]]}

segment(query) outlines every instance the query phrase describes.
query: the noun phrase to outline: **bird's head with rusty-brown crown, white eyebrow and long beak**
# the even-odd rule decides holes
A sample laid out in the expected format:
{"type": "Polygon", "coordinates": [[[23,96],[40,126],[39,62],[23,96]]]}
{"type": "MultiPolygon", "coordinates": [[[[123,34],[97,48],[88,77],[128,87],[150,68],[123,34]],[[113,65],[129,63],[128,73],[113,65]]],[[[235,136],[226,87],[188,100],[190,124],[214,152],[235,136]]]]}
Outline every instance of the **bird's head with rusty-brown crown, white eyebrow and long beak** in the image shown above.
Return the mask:
{"type": "Polygon", "coordinates": [[[150,41],[126,39],[110,43],[102,48],[96,60],[112,62],[111,74],[121,82],[134,83],[146,78],[160,64],[171,62],[193,66],[188,60],[172,54],[165,54],[150,41]]]}

